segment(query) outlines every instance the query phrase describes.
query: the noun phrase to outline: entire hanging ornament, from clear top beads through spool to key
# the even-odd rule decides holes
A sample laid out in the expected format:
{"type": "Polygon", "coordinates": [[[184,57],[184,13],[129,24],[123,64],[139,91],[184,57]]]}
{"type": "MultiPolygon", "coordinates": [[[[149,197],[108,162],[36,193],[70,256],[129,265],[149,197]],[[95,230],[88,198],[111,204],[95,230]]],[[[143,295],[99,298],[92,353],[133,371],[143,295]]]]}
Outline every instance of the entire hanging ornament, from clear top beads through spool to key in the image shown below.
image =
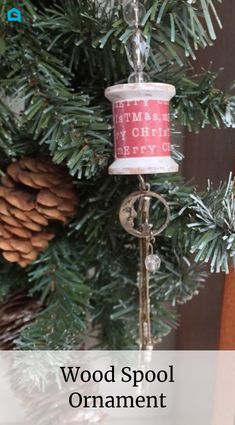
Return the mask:
{"type": "Polygon", "coordinates": [[[149,56],[149,44],[140,26],[145,16],[144,6],[138,0],[124,5],[123,15],[132,27],[125,49],[134,72],[128,84],[106,89],[105,95],[113,105],[115,161],[109,174],[134,174],[139,176],[138,192],[129,195],[122,203],[119,218],[123,228],[140,239],[140,341],[141,350],[151,350],[149,273],[156,272],[161,260],[153,252],[155,236],[169,222],[169,207],[165,199],[150,190],[142,174],[178,171],[177,163],[170,157],[169,101],[175,95],[170,84],[152,83],[144,72],[149,56]],[[160,202],[166,212],[165,220],[154,228],[150,219],[153,200],[160,202]]]}

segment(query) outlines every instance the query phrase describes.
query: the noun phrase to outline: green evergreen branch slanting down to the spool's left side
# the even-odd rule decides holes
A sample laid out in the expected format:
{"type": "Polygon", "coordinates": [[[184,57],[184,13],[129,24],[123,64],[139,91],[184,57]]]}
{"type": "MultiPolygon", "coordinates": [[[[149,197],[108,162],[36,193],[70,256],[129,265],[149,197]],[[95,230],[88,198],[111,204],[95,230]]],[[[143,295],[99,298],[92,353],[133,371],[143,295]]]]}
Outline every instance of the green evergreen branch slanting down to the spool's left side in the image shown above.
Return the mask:
{"type": "MultiPolygon", "coordinates": [[[[20,43],[24,41],[20,37],[20,43]]],[[[9,43],[14,42],[13,37],[9,43]]],[[[13,49],[12,69],[2,80],[9,95],[25,102],[20,119],[24,134],[36,141],[40,138],[40,144],[49,146],[54,162],[65,161],[71,174],[90,178],[99,173],[112,151],[110,117],[103,117],[103,108],[92,106],[93,99],[80,88],[74,92],[70,72],[43,49],[40,40],[30,35],[24,50],[22,57],[13,49]],[[16,62],[20,66],[15,67],[16,62]]]]}

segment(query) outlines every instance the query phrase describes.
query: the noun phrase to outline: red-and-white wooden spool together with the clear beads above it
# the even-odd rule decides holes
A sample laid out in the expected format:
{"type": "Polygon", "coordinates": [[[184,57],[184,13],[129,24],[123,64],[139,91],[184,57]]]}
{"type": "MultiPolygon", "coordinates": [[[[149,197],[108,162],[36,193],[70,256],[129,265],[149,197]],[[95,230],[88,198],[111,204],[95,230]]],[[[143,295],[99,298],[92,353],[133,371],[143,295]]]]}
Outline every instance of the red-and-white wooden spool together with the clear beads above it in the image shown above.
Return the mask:
{"type": "Polygon", "coordinates": [[[128,84],[106,89],[113,104],[115,161],[109,174],[154,174],[178,171],[170,157],[169,101],[175,95],[170,84],[146,82],[143,72],[149,45],[138,26],[144,7],[138,1],[124,6],[124,19],[134,27],[126,43],[129,63],[134,72],[128,84]]]}

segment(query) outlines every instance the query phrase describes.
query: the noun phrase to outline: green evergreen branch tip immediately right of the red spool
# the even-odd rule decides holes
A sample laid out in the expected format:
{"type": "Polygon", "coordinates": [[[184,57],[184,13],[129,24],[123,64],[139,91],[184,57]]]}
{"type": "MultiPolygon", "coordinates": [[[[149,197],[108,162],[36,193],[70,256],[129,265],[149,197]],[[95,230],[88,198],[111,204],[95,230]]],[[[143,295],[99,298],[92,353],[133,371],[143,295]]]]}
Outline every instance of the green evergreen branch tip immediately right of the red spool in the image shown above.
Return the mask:
{"type": "Polygon", "coordinates": [[[206,125],[223,128],[226,114],[234,104],[233,87],[227,91],[217,88],[217,80],[223,70],[204,69],[192,75],[192,68],[181,71],[173,65],[162,64],[161,72],[151,72],[153,80],[168,82],[176,87],[176,96],[171,101],[172,117],[188,131],[198,133],[206,125]]]}

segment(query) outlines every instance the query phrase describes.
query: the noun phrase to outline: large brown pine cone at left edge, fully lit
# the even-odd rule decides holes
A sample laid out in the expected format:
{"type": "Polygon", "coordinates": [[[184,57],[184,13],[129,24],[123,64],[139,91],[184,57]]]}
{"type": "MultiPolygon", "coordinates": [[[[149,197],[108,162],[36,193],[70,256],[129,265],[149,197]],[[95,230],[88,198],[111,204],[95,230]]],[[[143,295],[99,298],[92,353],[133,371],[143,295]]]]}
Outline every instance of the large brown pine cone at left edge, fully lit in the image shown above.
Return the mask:
{"type": "Polygon", "coordinates": [[[45,158],[23,158],[7,168],[0,185],[0,249],[26,267],[45,250],[53,233],[49,220],[67,223],[76,212],[72,178],[45,158]]]}

